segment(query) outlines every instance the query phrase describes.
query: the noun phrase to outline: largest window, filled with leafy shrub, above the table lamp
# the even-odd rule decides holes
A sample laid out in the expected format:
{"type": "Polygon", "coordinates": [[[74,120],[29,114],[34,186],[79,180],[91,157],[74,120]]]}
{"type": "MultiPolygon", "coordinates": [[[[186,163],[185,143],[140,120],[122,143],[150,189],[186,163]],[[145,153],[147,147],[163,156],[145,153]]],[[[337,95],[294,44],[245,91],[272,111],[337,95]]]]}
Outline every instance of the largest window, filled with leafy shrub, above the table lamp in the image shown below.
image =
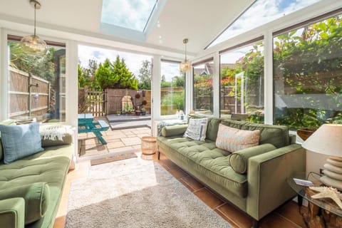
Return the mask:
{"type": "Polygon", "coordinates": [[[342,120],[342,15],[274,36],[274,123],[342,120]]]}

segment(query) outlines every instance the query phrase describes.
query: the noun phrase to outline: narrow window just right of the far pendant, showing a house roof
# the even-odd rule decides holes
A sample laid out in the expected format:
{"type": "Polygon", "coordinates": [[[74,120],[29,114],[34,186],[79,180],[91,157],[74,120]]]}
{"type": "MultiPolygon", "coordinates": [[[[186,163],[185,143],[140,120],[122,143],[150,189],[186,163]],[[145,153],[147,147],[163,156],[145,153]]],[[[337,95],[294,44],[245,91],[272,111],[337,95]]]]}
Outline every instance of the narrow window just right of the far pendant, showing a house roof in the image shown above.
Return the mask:
{"type": "Polygon", "coordinates": [[[194,109],[196,113],[212,114],[214,62],[212,59],[193,64],[194,109]]]}

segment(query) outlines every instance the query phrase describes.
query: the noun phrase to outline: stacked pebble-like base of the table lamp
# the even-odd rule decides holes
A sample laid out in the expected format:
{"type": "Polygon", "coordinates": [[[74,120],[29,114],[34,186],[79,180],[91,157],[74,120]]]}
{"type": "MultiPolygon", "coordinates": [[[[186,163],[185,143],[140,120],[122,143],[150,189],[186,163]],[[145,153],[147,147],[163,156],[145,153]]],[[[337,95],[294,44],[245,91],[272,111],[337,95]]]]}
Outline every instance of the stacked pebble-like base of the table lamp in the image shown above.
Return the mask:
{"type": "Polygon", "coordinates": [[[342,158],[331,156],[326,162],[323,170],[325,176],[320,178],[321,182],[326,186],[342,190],[342,158]]]}

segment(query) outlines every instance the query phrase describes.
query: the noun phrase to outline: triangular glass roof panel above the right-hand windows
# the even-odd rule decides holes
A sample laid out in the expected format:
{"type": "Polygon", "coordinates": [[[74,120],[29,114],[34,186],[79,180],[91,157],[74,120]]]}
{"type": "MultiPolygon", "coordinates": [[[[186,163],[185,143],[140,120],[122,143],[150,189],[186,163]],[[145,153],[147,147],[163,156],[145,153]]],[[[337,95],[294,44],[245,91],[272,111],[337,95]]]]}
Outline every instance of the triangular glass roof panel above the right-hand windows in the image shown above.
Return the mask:
{"type": "Polygon", "coordinates": [[[320,0],[257,0],[233,24],[229,25],[221,35],[210,43],[207,48],[227,41],[229,38],[262,26],[270,21],[279,19],[281,16],[303,9],[317,1],[320,0]]]}

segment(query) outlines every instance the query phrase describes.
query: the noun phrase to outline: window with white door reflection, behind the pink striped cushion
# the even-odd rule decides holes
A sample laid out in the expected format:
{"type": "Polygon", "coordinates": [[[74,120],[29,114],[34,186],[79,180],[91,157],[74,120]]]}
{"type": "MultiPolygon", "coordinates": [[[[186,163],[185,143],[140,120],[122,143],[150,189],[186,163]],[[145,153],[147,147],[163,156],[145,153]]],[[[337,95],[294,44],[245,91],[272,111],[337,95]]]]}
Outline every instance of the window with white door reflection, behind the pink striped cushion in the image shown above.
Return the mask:
{"type": "Polygon", "coordinates": [[[261,41],[220,55],[220,115],[264,122],[264,45],[261,41]]]}

